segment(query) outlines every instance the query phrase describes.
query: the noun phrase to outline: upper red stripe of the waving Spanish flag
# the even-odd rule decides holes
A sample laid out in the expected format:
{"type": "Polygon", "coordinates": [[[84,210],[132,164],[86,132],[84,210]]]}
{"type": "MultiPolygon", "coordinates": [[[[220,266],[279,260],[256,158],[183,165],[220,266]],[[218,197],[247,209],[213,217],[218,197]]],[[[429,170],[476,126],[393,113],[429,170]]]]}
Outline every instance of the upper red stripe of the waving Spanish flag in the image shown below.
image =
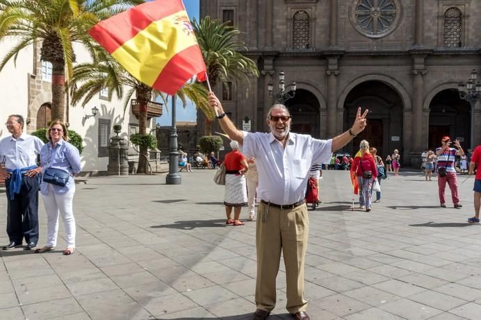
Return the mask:
{"type": "Polygon", "coordinates": [[[108,53],[113,53],[152,22],[182,10],[185,8],[181,0],[149,1],[99,22],[88,33],[108,53]]]}

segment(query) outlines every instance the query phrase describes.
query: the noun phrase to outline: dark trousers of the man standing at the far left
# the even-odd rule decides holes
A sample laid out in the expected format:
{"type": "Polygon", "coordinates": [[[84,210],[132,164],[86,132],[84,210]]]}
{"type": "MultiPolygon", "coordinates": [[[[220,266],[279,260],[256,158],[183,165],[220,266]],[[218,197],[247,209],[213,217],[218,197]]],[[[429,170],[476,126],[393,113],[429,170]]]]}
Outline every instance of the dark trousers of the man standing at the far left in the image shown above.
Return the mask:
{"type": "Polygon", "coordinates": [[[38,242],[38,187],[37,177],[22,176],[22,188],[10,200],[10,181],[5,181],[7,189],[7,234],[10,242],[22,244],[38,242]]]}

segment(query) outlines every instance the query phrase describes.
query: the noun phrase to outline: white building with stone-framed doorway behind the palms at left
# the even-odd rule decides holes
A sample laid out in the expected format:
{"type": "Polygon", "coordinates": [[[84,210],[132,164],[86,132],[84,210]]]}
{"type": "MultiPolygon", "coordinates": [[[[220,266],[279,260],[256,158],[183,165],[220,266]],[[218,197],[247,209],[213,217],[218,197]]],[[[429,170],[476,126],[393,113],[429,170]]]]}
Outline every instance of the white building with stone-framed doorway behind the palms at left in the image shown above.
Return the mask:
{"type": "MultiPolygon", "coordinates": [[[[15,45],[15,40],[4,40],[0,48],[0,58],[15,45]]],[[[76,62],[89,60],[87,51],[74,44],[76,62]]],[[[25,131],[31,133],[38,128],[44,128],[51,121],[51,65],[40,60],[40,46],[32,45],[22,51],[17,58],[8,62],[0,72],[0,88],[3,106],[0,108],[0,138],[9,135],[3,123],[8,115],[19,114],[26,120],[25,131]]],[[[127,92],[128,90],[124,90],[127,92]]],[[[72,106],[67,103],[65,121],[69,129],[83,137],[83,153],[81,160],[82,174],[101,174],[107,170],[108,145],[113,135],[113,125],[122,126],[122,137],[129,138],[131,133],[138,132],[135,103],[129,103],[124,111],[124,102],[113,96],[109,99],[107,90],[102,90],[85,107],[72,106]],[[92,109],[97,108],[97,115],[92,115],[92,109]]],[[[150,103],[147,133],[155,128],[155,118],[162,115],[162,106],[150,103]]],[[[138,115],[138,113],[137,113],[138,115]]],[[[135,152],[131,149],[129,152],[135,152]]],[[[1,162],[1,159],[0,159],[1,162]]]]}

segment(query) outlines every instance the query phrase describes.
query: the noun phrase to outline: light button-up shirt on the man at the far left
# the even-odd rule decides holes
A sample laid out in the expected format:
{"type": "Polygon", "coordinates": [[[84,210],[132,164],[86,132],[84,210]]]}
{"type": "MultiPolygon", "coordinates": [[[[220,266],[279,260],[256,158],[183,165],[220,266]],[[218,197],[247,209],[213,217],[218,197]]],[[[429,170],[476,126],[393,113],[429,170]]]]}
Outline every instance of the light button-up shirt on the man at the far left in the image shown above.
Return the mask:
{"type": "Polygon", "coordinates": [[[37,164],[37,155],[44,143],[38,137],[22,133],[18,139],[13,135],[0,140],[0,162],[5,159],[7,169],[22,169],[37,164]]]}

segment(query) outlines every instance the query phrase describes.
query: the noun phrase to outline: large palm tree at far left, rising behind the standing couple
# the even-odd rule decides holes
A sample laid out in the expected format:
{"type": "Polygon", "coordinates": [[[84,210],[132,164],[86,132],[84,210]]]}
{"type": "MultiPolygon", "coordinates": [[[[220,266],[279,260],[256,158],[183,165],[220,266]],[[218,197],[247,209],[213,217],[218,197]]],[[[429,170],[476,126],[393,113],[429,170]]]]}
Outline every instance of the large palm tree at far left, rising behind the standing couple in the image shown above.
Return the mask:
{"type": "Polygon", "coordinates": [[[51,108],[53,119],[65,115],[65,81],[72,77],[74,42],[92,47],[88,30],[97,22],[116,15],[144,0],[0,0],[0,40],[19,42],[0,62],[6,63],[31,44],[41,42],[40,58],[52,64],[51,108]]]}

